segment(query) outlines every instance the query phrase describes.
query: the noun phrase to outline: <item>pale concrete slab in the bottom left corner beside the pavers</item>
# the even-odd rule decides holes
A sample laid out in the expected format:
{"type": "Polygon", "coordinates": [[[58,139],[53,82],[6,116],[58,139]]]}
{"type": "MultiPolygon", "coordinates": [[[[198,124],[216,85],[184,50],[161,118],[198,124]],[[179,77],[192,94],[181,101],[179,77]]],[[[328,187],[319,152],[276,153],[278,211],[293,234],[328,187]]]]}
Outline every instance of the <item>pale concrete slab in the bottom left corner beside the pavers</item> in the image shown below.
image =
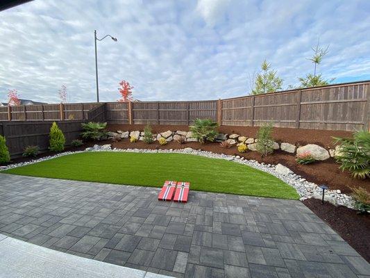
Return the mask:
{"type": "Polygon", "coordinates": [[[131,277],[166,278],[120,265],[112,265],[26,243],[0,234],[0,276],[2,278],[131,277]]]}

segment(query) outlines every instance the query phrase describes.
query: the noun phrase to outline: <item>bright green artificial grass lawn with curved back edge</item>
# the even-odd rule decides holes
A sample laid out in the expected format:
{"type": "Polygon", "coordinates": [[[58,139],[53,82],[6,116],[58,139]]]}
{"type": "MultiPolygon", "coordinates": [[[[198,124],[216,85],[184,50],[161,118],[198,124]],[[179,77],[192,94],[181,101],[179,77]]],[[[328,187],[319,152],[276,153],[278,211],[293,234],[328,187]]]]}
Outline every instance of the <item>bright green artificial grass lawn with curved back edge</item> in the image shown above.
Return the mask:
{"type": "Polygon", "coordinates": [[[3,171],[33,177],[162,187],[190,181],[191,190],[298,199],[286,183],[252,167],[191,154],[84,152],[3,171]]]}

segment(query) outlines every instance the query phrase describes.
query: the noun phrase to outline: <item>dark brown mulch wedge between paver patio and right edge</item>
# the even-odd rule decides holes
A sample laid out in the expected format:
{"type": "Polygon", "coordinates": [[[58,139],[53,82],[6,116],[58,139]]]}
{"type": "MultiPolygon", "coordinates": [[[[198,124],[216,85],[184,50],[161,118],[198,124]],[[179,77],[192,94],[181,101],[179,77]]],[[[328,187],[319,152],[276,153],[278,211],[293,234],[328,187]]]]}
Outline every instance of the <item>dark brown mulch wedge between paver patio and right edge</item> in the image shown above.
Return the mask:
{"type": "Polygon", "coordinates": [[[319,218],[346,240],[357,252],[370,263],[370,216],[358,214],[344,206],[333,206],[318,199],[307,199],[303,202],[319,218]]]}

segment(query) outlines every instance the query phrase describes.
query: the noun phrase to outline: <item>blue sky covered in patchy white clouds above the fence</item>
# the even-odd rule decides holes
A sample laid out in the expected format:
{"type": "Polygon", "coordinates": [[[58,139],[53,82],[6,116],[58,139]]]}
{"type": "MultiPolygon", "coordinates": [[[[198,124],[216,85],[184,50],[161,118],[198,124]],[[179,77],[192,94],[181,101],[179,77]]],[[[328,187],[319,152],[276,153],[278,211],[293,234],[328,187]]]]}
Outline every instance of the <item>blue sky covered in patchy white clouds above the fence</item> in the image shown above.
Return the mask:
{"type": "Polygon", "coordinates": [[[249,94],[266,58],[284,88],[312,72],[317,40],[330,45],[319,72],[335,83],[370,79],[369,0],[35,0],[0,12],[0,100],[94,101],[94,29],[101,101],[129,81],[140,100],[249,94]]]}

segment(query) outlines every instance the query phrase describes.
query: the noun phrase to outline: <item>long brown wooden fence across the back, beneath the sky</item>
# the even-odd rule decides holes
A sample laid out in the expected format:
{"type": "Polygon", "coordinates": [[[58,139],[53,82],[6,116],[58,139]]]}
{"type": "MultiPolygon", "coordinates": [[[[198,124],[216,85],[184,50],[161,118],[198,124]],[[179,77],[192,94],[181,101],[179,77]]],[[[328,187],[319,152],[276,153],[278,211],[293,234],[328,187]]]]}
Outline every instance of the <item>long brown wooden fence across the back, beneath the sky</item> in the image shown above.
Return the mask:
{"type": "Polygon", "coordinates": [[[274,126],[354,131],[369,129],[370,81],[208,101],[135,101],[0,107],[0,121],[94,120],[110,124],[274,126]]]}

